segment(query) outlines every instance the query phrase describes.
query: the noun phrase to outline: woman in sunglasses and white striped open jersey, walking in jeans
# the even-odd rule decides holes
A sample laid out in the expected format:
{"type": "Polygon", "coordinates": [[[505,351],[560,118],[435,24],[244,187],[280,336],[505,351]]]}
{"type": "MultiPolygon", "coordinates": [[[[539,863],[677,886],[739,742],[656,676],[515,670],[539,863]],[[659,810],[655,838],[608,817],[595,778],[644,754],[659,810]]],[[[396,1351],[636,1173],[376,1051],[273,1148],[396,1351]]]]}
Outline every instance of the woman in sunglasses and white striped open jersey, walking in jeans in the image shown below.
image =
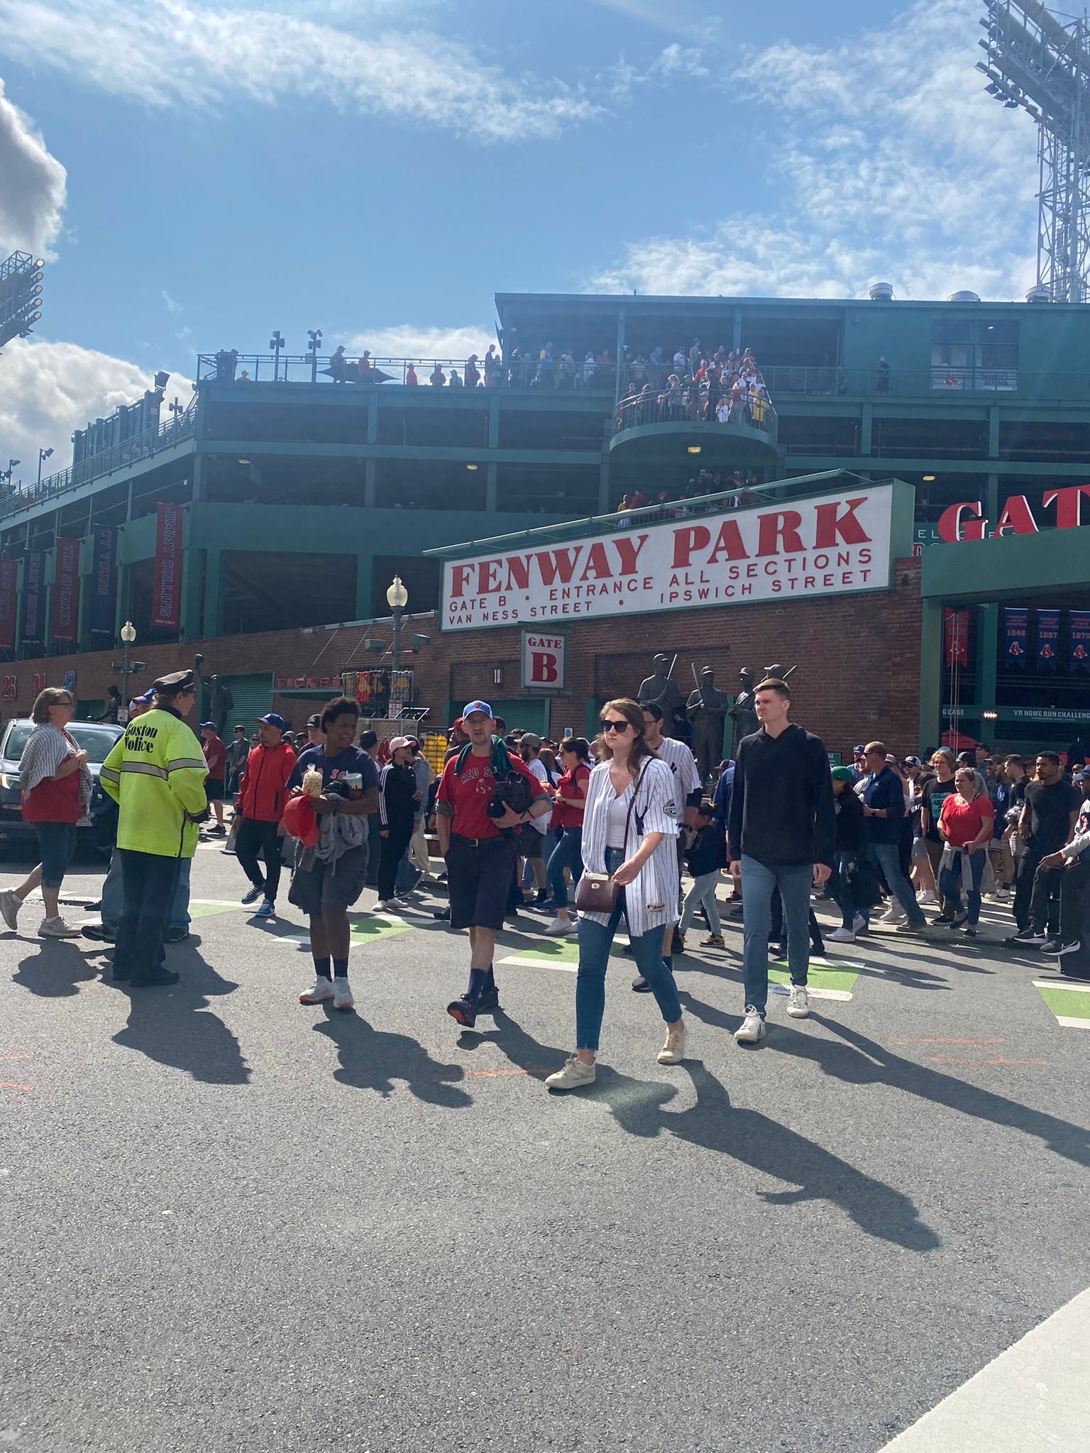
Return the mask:
{"type": "Polygon", "coordinates": [[[644,741],[638,702],[622,697],[602,708],[607,754],[590,773],[583,817],[583,867],[612,873],[619,885],[612,912],[580,911],[576,979],[576,1053],[549,1075],[549,1090],[594,1082],[606,965],[623,912],[637,968],[666,1020],[660,1065],[685,1058],[685,1024],[670,965],[663,959],[663,928],[677,921],[677,818],[673,774],[644,741]]]}

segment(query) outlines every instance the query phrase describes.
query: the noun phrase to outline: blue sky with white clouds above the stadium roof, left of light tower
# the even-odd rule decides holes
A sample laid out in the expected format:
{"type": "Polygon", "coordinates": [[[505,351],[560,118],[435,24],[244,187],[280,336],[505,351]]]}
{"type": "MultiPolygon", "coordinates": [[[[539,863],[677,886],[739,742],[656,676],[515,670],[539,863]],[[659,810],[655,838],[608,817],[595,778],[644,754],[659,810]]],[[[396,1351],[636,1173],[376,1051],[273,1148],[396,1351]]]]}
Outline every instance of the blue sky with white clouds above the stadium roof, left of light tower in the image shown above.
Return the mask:
{"type": "Polygon", "coordinates": [[[51,257],[0,453],[275,327],[456,353],[496,291],[1022,296],[1035,137],[980,13],[0,0],[0,244],[51,257]]]}

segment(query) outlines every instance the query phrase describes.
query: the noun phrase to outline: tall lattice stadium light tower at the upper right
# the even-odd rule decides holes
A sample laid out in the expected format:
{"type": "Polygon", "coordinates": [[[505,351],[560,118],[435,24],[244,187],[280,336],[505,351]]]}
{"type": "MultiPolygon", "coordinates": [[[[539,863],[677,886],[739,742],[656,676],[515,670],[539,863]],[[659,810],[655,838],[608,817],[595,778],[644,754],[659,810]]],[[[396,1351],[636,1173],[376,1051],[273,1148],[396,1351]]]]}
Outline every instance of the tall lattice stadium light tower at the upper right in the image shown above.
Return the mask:
{"type": "Polygon", "coordinates": [[[987,0],[987,92],[1038,124],[1038,286],[1052,302],[1090,301],[1090,22],[1036,0],[987,0]]]}

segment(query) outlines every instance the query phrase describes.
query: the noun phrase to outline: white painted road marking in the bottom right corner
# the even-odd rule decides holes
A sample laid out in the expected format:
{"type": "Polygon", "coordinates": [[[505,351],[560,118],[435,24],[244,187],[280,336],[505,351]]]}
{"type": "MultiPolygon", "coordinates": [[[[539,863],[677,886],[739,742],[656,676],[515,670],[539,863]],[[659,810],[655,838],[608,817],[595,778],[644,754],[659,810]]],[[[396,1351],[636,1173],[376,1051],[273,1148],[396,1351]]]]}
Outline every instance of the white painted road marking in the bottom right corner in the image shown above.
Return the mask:
{"type": "Polygon", "coordinates": [[[1090,1292],[1081,1292],[882,1453],[1080,1453],[1087,1447],[1090,1292]]]}

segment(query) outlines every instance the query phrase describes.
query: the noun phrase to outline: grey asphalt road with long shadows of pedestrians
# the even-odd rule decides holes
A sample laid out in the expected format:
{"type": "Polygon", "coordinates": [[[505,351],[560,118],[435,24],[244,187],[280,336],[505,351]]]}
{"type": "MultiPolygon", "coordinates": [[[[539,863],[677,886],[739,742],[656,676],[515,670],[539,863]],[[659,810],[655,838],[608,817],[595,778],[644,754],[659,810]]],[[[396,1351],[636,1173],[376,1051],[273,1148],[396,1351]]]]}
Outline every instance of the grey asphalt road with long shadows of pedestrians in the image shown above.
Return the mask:
{"type": "Polygon", "coordinates": [[[679,960],[677,1068],[619,959],[561,1097],[574,950],[504,934],[467,1033],[464,937],[365,894],[334,1014],[243,886],[199,850],[173,989],[33,904],[0,936],[0,1447],[876,1453],[1090,1284],[1090,1035],[998,907],[841,947],[754,1048],[728,926],[679,960]]]}

